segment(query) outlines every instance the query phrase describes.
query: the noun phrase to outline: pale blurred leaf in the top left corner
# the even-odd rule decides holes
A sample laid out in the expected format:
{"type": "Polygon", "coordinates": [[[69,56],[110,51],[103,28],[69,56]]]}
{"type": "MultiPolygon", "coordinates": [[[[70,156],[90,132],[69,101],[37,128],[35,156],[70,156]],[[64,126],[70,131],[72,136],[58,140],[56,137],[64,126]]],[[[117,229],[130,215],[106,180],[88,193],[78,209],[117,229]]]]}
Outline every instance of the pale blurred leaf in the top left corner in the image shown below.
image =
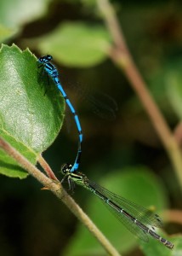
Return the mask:
{"type": "Polygon", "coordinates": [[[22,26],[46,12],[50,0],[1,0],[0,24],[9,28],[22,26]]]}

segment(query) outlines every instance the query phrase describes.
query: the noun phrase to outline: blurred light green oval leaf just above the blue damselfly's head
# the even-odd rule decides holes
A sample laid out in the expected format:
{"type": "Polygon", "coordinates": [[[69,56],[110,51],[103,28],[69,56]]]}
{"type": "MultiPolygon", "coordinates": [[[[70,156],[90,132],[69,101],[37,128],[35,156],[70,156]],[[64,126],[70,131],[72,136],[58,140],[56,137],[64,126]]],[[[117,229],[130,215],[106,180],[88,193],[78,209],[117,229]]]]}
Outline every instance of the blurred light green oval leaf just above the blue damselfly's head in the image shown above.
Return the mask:
{"type": "Polygon", "coordinates": [[[105,60],[110,41],[104,26],[69,22],[48,36],[38,38],[37,46],[42,54],[51,53],[56,61],[66,66],[91,67],[105,60]]]}

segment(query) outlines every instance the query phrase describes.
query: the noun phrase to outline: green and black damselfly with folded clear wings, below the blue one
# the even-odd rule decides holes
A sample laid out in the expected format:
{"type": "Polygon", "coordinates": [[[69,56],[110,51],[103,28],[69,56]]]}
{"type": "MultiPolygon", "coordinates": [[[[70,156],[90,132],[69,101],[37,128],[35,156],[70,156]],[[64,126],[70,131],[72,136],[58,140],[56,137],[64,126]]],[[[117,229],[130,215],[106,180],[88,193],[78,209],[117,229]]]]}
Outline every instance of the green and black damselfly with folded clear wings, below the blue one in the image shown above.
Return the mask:
{"type": "Polygon", "coordinates": [[[162,227],[162,220],[150,210],[140,207],[132,201],[128,201],[122,196],[115,195],[111,191],[101,187],[97,183],[88,180],[81,172],[71,172],[71,165],[65,164],[61,168],[61,172],[65,175],[63,181],[67,181],[70,189],[74,189],[75,183],[83,186],[97,195],[100,200],[105,202],[105,206],[109,207],[111,212],[130,230],[135,236],[143,241],[148,241],[148,236],[162,242],[169,249],[173,249],[173,243],[162,238],[155,232],[155,227],[162,227]]]}

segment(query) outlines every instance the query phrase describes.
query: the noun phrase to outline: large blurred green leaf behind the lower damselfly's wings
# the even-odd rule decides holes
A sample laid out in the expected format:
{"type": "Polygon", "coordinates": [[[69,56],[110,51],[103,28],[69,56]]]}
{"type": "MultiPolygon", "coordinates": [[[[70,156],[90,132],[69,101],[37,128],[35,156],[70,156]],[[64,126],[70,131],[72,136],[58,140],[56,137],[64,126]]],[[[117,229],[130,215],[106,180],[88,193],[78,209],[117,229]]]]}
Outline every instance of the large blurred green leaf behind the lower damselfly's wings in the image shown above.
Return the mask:
{"type": "MultiPolygon", "coordinates": [[[[101,171],[93,170],[92,172],[101,171]]],[[[138,168],[128,167],[125,170],[112,170],[111,174],[105,175],[100,184],[117,195],[122,195],[143,207],[155,210],[155,212],[161,212],[167,207],[167,198],[162,183],[156,180],[148,168],[139,166],[138,168]]],[[[110,211],[107,211],[96,196],[90,195],[85,209],[94,224],[100,228],[117,250],[122,253],[128,252],[136,246],[134,235],[120,224],[110,211]]],[[[154,241],[155,245],[158,243],[158,241],[154,241]]],[[[160,246],[163,248],[161,243],[160,246]]],[[[104,253],[104,250],[99,242],[81,224],[65,251],[65,255],[70,256],[100,255],[101,253],[104,253]]]]}

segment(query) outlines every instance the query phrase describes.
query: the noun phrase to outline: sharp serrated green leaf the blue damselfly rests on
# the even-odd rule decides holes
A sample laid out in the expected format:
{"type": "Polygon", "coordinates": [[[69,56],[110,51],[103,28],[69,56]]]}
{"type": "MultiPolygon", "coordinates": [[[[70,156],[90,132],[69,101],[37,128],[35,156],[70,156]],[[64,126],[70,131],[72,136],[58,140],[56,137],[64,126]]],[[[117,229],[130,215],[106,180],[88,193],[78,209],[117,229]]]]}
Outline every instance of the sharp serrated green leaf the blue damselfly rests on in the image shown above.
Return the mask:
{"type": "MultiPolygon", "coordinates": [[[[57,137],[65,102],[54,82],[43,77],[37,59],[26,49],[3,45],[0,49],[0,136],[31,163],[57,137]],[[45,94],[46,90],[46,94],[45,94]]],[[[26,177],[20,166],[3,151],[0,172],[9,177],[26,177]]]]}

